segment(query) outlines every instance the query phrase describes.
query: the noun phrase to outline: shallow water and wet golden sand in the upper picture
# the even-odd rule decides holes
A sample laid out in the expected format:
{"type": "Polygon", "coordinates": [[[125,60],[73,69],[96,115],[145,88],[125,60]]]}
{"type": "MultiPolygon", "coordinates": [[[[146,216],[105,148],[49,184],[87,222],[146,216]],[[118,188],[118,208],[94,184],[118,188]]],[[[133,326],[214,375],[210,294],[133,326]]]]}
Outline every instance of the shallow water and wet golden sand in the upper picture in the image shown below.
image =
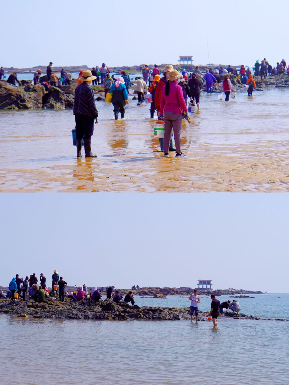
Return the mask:
{"type": "Polygon", "coordinates": [[[71,110],[2,111],[0,191],[288,191],[288,107],[284,89],[229,103],[204,94],[183,122],[184,159],[163,158],[149,105],[135,100],[122,121],[97,102],[97,159],[76,159],[71,110]]]}

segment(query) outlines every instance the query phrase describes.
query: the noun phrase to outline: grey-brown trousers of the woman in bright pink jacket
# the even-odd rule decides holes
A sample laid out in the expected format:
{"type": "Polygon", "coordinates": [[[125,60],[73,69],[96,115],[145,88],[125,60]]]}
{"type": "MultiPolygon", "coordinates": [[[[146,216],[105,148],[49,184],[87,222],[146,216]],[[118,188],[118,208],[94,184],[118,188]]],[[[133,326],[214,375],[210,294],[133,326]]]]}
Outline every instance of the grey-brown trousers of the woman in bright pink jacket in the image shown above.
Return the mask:
{"type": "Polygon", "coordinates": [[[171,137],[175,136],[176,152],[181,153],[181,122],[182,115],[176,112],[165,111],[165,137],[163,141],[163,152],[169,152],[171,137]]]}

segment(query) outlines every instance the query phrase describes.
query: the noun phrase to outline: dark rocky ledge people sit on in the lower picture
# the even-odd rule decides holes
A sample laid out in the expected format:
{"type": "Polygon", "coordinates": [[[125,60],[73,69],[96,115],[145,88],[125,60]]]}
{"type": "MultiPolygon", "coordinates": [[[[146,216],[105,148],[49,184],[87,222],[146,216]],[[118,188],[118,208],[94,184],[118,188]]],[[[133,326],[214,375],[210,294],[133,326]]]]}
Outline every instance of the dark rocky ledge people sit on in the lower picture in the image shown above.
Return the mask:
{"type": "MultiPolygon", "coordinates": [[[[208,321],[206,315],[209,312],[199,310],[199,321],[208,321]]],[[[106,299],[101,303],[93,301],[74,301],[65,298],[64,302],[52,302],[50,298],[43,302],[34,301],[0,301],[0,314],[30,318],[74,319],[74,320],[189,320],[190,308],[162,308],[137,305],[130,306],[127,303],[114,303],[106,299]]],[[[262,320],[254,315],[224,313],[220,317],[239,320],[262,320]]],[[[266,318],[265,320],[269,320],[266,318]]],[[[288,321],[276,319],[278,321],[288,321]]]]}

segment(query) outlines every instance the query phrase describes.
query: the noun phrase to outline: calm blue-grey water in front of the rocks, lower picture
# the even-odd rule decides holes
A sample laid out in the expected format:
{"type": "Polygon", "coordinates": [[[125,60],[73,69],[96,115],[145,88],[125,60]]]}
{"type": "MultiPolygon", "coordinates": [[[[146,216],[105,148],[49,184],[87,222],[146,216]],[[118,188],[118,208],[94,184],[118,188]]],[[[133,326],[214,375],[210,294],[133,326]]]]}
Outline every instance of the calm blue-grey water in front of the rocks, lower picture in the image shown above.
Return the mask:
{"type": "Polygon", "coordinates": [[[287,322],[222,319],[212,326],[1,316],[1,383],[287,383],[287,322]]]}

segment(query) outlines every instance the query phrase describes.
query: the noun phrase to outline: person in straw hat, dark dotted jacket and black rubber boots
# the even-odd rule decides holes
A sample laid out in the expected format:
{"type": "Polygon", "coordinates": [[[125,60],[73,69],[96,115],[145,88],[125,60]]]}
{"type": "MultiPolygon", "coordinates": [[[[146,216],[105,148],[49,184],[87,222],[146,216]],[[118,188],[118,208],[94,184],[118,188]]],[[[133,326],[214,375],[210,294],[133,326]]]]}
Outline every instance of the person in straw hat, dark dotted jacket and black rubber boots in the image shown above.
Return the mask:
{"type": "Polygon", "coordinates": [[[77,157],[81,157],[82,138],[84,137],[85,156],[94,158],[97,155],[91,152],[91,137],[94,130],[94,119],[97,123],[98,111],[96,109],[94,94],[89,86],[96,76],[91,75],[90,70],[84,70],[82,77],[79,79],[81,84],[77,85],[74,92],[73,114],[76,123],[76,150],[77,157]]]}

